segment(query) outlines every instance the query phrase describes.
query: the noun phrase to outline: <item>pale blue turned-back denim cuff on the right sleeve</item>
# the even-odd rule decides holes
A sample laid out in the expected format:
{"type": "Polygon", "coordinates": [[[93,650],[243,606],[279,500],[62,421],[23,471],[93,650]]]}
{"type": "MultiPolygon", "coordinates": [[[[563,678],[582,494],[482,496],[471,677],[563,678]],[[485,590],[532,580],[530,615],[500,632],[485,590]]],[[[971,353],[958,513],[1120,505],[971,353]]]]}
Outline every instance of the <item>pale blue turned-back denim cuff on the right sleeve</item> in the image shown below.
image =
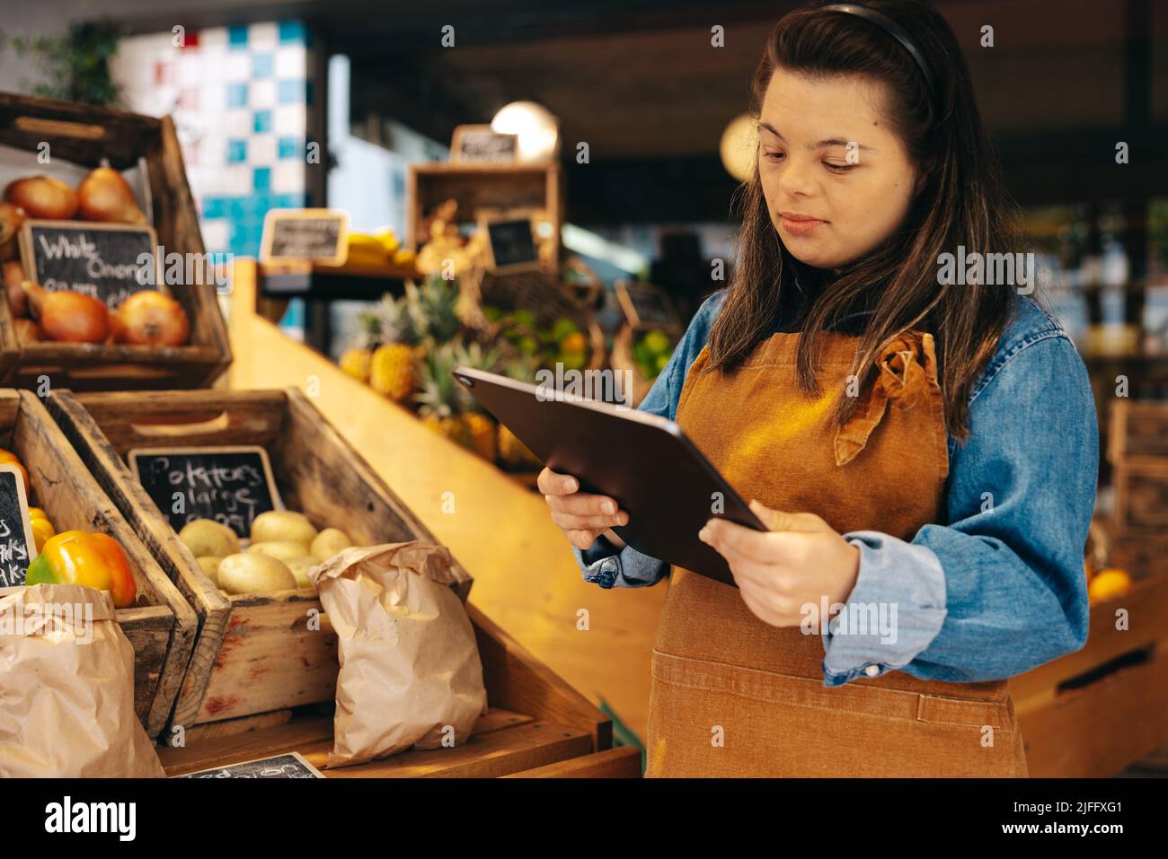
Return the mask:
{"type": "Polygon", "coordinates": [[[825,686],[904,668],[937,637],[947,614],[945,571],[931,549],[878,531],[843,538],[860,550],[860,573],[821,634],[825,686]]]}

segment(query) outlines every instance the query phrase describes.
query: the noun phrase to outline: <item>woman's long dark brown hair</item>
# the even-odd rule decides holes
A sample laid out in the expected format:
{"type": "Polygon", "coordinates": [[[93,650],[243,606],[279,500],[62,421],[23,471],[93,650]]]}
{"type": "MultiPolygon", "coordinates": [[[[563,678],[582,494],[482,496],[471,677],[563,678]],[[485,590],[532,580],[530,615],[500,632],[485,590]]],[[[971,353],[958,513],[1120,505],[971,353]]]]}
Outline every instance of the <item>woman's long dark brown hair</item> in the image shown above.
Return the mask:
{"type": "MultiPolygon", "coordinates": [[[[920,0],[870,0],[908,32],[932,69],[930,97],[920,69],[889,34],[855,15],[814,7],[776,25],[751,86],[757,113],[777,69],[826,78],[862,76],[885,85],[884,106],[894,133],[923,174],[920,193],[904,224],[889,239],[839,275],[798,263],[783,246],[767,211],[758,174],[739,188],[743,210],[737,263],[730,291],[709,337],[711,369],[732,371],[767,336],[780,302],[793,301],[792,274],[800,286],[815,278],[818,295],[804,308],[798,378],[818,394],[819,331],[853,314],[867,324],[853,372],[867,382],[877,350],[910,328],[930,331],[937,344],[945,420],[958,439],[968,434],[967,403],[981,369],[993,356],[1014,299],[1008,284],[938,284],[943,253],[1010,253],[1016,205],[1006,193],[989,137],[978,113],[969,72],[945,19],[920,0]]],[[[856,397],[839,397],[833,419],[844,421],[856,397]]]]}

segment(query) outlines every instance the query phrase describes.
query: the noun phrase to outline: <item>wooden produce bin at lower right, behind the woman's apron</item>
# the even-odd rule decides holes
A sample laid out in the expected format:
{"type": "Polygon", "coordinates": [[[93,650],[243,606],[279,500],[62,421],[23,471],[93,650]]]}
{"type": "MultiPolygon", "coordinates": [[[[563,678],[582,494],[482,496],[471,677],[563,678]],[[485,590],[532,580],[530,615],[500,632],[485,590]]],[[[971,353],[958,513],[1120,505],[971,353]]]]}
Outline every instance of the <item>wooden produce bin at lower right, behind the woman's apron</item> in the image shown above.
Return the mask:
{"type": "Polygon", "coordinates": [[[1092,606],[1086,645],[1011,678],[1010,694],[1033,777],[1110,777],[1168,740],[1168,575],[1092,606]]]}

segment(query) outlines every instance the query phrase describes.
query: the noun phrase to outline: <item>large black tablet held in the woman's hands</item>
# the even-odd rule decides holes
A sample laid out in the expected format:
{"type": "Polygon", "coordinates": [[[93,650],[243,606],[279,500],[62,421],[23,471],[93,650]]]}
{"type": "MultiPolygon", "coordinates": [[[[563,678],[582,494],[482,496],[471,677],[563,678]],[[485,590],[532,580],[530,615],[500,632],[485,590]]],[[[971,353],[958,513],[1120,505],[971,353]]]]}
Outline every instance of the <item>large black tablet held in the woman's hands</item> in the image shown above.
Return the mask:
{"type": "Polygon", "coordinates": [[[672,420],[465,366],[454,378],[554,472],[616,498],[628,512],[628,524],[613,529],[625,543],[734,585],[725,559],[697,532],[714,516],[766,528],[672,420]]]}

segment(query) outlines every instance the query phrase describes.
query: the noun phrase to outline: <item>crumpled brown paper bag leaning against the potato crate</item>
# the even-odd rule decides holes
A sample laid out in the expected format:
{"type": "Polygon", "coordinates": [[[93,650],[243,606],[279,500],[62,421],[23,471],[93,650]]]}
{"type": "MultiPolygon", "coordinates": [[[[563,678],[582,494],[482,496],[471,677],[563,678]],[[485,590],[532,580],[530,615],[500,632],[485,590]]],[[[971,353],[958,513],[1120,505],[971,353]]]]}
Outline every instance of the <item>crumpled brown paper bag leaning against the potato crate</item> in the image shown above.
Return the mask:
{"type": "Polygon", "coordinates": [[[450,587],[450,551],[417,540],[350,549],[308,574],[341,663],[326,766],[437,748],[451,733],[465,742],[487,691],[471,619],[450,587]]]}

